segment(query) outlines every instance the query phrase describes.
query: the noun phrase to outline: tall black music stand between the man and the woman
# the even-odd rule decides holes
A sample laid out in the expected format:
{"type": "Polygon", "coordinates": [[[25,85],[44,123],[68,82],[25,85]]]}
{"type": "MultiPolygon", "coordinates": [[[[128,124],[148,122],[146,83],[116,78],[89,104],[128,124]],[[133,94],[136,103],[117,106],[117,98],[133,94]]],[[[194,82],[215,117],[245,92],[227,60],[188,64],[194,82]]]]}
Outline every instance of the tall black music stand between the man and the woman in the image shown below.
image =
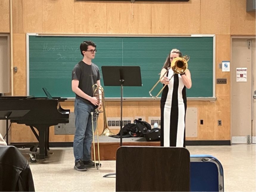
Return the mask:
{"type": "MultiPolygon", "coordinates": [[[[123,86],[142,86],[141,68],[139,66],[102,66],[104,86],[121,86],[121,120],[120,120],[120,146],[123,137],[123,86]]],[[[115,175],[110,173],[107,177],[115,175]]]]}

